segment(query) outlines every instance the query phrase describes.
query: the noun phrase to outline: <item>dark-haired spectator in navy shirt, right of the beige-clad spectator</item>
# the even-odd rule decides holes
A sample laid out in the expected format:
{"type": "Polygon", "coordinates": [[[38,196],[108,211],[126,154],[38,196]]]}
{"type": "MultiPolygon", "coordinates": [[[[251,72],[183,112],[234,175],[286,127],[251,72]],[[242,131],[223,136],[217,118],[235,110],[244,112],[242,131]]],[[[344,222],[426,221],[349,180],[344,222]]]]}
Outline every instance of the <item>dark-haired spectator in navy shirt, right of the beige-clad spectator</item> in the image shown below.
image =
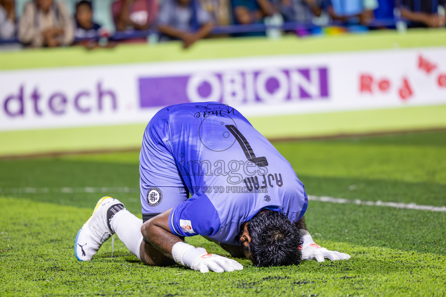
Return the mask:
{"type": "Polygon", "coordinates": [[[93,9],[91,2],[81,0],[76,4],[76,30],[75,38],[95,38],[105,33],[105,30],[93,22],[93,9]]]}

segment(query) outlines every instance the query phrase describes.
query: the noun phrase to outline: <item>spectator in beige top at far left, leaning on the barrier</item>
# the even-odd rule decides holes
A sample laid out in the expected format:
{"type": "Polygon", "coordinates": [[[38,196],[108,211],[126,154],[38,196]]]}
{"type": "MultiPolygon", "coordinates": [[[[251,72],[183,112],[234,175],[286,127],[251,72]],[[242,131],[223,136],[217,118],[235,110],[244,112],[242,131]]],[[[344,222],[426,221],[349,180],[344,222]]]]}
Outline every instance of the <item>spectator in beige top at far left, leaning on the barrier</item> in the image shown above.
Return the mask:
{"type": "Polygon", "coordinates": [[[32,47],[70,45],[74,22],[63,2],[33,0],[23,9],[18,37],[32,47]]]}

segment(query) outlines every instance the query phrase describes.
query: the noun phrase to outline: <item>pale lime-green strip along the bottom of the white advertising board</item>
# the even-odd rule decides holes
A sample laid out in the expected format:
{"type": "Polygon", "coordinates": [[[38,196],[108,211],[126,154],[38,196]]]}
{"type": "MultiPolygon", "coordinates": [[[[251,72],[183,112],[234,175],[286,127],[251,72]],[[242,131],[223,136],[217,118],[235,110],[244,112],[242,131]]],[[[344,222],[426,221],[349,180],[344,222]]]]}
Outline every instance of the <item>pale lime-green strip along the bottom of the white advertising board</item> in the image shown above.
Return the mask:
{"type": "MultiPolygon", "coordinates": [[[[248,120],[266,138],[283,140],[445,129],[445,114],[446,105],[440,105],[319,114],[285,114],[248,117],[248,120]]],[[[118,126],[0,131],[0,158],[73,151],[131,150],[141,147],[145,126],[146,122],[118,126]]]]}

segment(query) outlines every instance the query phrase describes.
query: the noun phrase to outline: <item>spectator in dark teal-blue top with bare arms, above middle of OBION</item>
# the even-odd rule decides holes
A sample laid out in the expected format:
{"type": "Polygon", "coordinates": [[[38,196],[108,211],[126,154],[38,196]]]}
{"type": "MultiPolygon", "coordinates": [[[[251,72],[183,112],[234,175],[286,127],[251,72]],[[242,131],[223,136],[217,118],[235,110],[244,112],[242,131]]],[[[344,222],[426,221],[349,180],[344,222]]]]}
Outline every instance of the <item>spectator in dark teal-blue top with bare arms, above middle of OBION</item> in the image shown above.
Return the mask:
{"type": "Polygon", "coordinates": [[[235,23],[261,23],[265,16],[273,16],[274,9],[268,0],[232,0],[235,23]]]}

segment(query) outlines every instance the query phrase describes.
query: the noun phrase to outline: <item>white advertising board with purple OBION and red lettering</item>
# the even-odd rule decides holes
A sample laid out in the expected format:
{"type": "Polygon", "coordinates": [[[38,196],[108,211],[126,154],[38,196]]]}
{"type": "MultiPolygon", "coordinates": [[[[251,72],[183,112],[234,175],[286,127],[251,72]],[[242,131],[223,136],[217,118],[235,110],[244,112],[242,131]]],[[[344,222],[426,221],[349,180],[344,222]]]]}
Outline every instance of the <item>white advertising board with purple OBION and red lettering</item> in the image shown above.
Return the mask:
{"type": "Polygon", "coordinates": [[[446,47],[0,71],[0,130],[149,122],[177,103],[247,117],[446,104],[446,47]]]}

